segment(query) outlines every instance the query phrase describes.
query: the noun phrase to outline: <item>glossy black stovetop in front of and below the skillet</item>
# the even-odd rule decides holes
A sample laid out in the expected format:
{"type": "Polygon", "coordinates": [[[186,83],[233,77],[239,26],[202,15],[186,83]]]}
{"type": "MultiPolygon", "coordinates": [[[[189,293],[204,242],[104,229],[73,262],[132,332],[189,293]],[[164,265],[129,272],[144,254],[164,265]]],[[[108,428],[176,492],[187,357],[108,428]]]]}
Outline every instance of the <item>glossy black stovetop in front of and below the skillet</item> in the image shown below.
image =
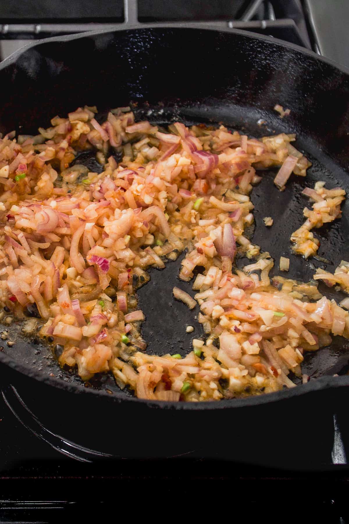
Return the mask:
{"type": "MultiPolygon", "coordinates": [[[[294,496],[302,515],[308,515],[309,511],[314,518],[321,508],[321,517],[325,518],[321,522],[349,522],[346,408],[337,410],[336,427],[334,415],[328,410],[324,410],[320,419],[311,412],[306,419],[295,413],[290,420],[286,419],[287,425],[275,420],[272,431],[260,428],[251,434],[242,429],[238,436],[231,434],[236,430],[233,421],[227,420],[227,424],[217,428],[217,437],[205,445],[200,445],[197,435],[188,435],[183,428],[192,451],[184,451],[181,456],[161,460],[111,459],[97,456],[93,451],[86,453],[78,443],[69,441],[64,424],[60,437],[45,427],[42,413],[39,419],[35,410],[28,414],[25,402],[35,388],[34,382],[28,383],[27,378],[17,373],[9,374],[4,365],[0,365],[0,377],[2,522],[51,522],[52,515],[61,518],[64,511],[72,518],[81,514],[90,496],[105,508],[115,493],[129,503],[134,490],[140,505],[154,497],[154,490],[159,499],[164,495],[173,497],[178,492],[183,499],[193,497],[193,492],[205,493],[217,481],[223,481],[219,484],[220,499],[229,500],[233,494],[234,499],[255,510],[265,505],[271,494],[275,508],[278,502],[287,504],[289,497],[294,496]],[[310,506],[306,494],[311,494],[310,506]]],[[[47,409],[58,407],[54,404],[50,408],[48,400],[47,409]]],[[[64,407],[58,416],[64,418],[64,407]]],[[[105,430],[107,427],[102,428],[105,430]]],[[[122,438],[116,432],[116,449],[122,447],[122,438]]],[[[273,516],[269,522],[274,522],[273,516]]]]}

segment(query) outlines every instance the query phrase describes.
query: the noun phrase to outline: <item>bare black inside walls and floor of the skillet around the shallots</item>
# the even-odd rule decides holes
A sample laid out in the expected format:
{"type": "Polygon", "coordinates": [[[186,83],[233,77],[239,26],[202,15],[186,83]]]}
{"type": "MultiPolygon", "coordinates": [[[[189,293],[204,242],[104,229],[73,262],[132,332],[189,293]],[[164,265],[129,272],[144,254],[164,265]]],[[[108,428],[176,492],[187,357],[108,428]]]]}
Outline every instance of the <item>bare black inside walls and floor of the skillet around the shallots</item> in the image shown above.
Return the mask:
{"type": "MultiPolygon", "coordinates": [[[[313,167],[306,180],[293,177],[283,193],[274,187],[272,174],[253,190],[254,242],[275,260],[280,255],[290,256],[290,278],[308,280],[310,263],[290,255],[289,235],[302,222],[307,201],[300,192],[305,183],[325,180],[329,187],[340,184],[349,190],[348,78],[313,54],[239,31],[142,28],[51,39],[17,54],[16,59],[9,58],[0,67],[5,101],[0,129],[35,132],[38,126],[49,125],[55,114],[63,116],[85,103],[96,104],[103,112],[131,101],[137,117],[156,123],[177,119],[187,124],[223,122],[256,137],[295,132],[296,147],[307,152],[313,167]],[[275,103],[291,108],[290,116],[280,119],[273,112],[275,103]],[[258,124],[261,120],[265,124],[258,124]],[[271,229],[262,222],[269,215],[274,217],[271,229]]],[[[330,270],[349,257],[348,216],[345,203],[342,219],[319,230],[319,254],[331,260],[330,270]]],[[[324,267],[316,261],[314,265],[324,267]]],[[[151,351],[160,354],[168,352],[168,346],[177,340],[183,341],[183,352],[190,345],[184,330],[188,310],[171,299],[177,273],[174,266],[152,271],[152,281],[139,292],[147,315],[144,338],[151,351]]],[[[47,350],[41,348],[37,353],[38,348],[32,340],[12,348],[4,344],[0,358],[37,378],[49,379],[49,373],[59,376],[47,350]]],[[[306,366],[314,377],[333,375],[348,358],[349,346],[334,341],[330,348],[310,355],[306,366]]],[[[78,383],[67,373],[55,381],[61,387],[78,383]]],[[[111,379],[96,387],[110,389],[118,398],[125,396],[111,379]]],[[[292,391],[282,391],[279,397],[291,395],[292,391]]]]}

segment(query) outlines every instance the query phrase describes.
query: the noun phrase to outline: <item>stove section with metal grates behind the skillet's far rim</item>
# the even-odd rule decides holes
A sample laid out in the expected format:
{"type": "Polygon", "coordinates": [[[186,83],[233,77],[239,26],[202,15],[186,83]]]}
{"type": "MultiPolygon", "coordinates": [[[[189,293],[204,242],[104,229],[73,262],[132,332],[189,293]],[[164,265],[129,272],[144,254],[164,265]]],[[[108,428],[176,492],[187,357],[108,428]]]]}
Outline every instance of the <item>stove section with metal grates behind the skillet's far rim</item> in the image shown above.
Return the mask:
{"type": "Polygon", "coordinates": [[[336,0],[61,0],[0,3],[0,58],[28,41],[144,23],[196,23],[269,35],[349,67],[349,3],[336,0]]]}

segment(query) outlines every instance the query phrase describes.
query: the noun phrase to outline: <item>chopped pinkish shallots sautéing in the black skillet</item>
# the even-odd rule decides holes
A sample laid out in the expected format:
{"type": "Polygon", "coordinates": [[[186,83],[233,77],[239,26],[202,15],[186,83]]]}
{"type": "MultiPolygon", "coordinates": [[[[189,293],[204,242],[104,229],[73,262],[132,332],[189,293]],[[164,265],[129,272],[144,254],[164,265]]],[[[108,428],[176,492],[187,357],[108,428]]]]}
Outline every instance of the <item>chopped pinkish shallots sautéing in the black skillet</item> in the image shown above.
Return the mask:
{"type": "MultiPolygon", "coordinates": [[[[263,171],[279,168],[279,189],[291,172],[306,176],[310,162],[291,145],[295,135],[255,139],[181,122],[164,129],[135,123],[129,107],[104,122],[96,113],[79,107],[36,137],[1,139],[0,298],[10,321],[38,311],[41,335],[63,346],[61,366],[77,366],[83,380],[110,372],[120,388],[151,401],[268,393],[294,387],[293,374],[305,381],[305,351],[333,335],[349,339],[349,302],[322,297],[313,282],[271,282],[273,254],[246,230],[263,171]],[[94,154],[101,172],[74,164],[78,151],[94,154]],[[163,269],[182,253],[178,277],[193,279],[195,299],[179,287],[173,296],[198,309],[205,337],[185,356],[177,341],[159,356],[142,338],[136,290],[150,280],[149,267],[163,269]],[[250,262],[235,263],[237,254],[250,262]]],[[[291,242],[307,257],[319,244],[311,229],[340,218],[345,191],[317,182],[303,195],[312,209],[291,242]]],[[[279,268],[288,270],[289,259],[279,268]]],[[[319,279],[349,293],[349,264],[342,260],[333,274],[318,269],[319,279]]],[[[155,300],[165,292],[154,290],[155,300]]]]}

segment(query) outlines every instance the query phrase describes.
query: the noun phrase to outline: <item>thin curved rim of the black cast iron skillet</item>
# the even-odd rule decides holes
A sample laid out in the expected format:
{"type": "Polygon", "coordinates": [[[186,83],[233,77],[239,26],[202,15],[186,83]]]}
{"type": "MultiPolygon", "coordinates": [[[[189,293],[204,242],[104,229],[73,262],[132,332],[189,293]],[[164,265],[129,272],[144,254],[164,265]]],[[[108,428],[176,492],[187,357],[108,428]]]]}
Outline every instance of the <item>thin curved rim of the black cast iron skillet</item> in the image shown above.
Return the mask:
{"type": "MultiPolygon", "coordinates": [[[[97,35],[104,35],[109,33],[117,33],[120,31],[139,31],[142,29],[166,29],[166,28],[172,28],[172,29],[195,29],[195,30],[202,30],[202,31],[215,31],[215,32],[226,32],[229,34],[236,34],[240,35],[244,38],[249,38],[252,40],[262,40],[264,42],[270,42],[275,43],[278,46],[288,48],[293,51],[300,52],[302,54],[306,54],[313,59],[323,61],[329,65],[331,65],[334,69],[339,70],[340,72],[344,73],[349,77],[349,68],[345,67],[342,64],[339,64],[335,62],[334,60],[331,60],[329,58],[322,57],[321,55],[318,55],[316,52],[311,51],[306,48],[302,48],[301,46],[298,46],[297,44],[285,42],[284,40],[280,40],[278,38],[269,37],[267,35],[261,35],[258,33],[255,33],[253,31],[246,31],[243,29],[235,29],[235,28],[216,28],[216,27],[198,27],[196,24],[193,23],[160,23],[160,24],[120,24],[116,25],[114,29],[105,29],[105,30],[92,30],[92,31],[85,31],[81,33],[76,33],[73,35],[63,35],[63,36],[56,36],[56,37],[50,37],[50,38],[43,38],[39,40],[35,40],[31,43],[28,43],[24,47],[21,47],[14,53],[10,54],[5,60],[3,60],[0,63],[0,71],[6,69],[10,65],[16,62],[18,57],[24,52],[26,52],[28,49],[31,49],[33,47],[38,47],[45,43],[50,42],[69,42],[72,40],[78,40],[81,38],[86,38],[88,36],[97,36],[97,35]]],[[[268,394],[262,394],[262,395],[254,395],[249,396],[245,398],[233,398],[233,399],[225,399],[223,401],[219,402],[211,402],[211,401],[202,401],[202,402],[173,402],[173,401],[151,401],[147,399],[139,399],[137,397],[128,397],[128,396],[110,396],[110,394],[107,393],[107,391],[104,390],[95,390],[92,388],[85,388],[81,386],[80,384],[73,384],[69,383],[67,384],[65,381],[60,380],[56,377],[50,377],[49,375],[44,375],[40,373],[36,369],[32,369],[25,364],[22,364],[21,362],[14,361],[10,356],[7,354],[0,352],[0,362],[9,366],[10,368],[14,369],[16,372],[25,375],[29,378],[35,379],[38,383],[44,383],[49,385],[50,387],[55,387],[59,389],[63,389],[68,392],[72,392],[74,394],[88,394],[88,395],[97,395],[102,397],[107,397],[109,400],[121,403],[121,402],[136,402],[138,405],[148,406],[152,409],[172,409],[172,410],[195,410],[195,411],[202,411],[202,410],[221,410],[226,408],[242,408],[242,407],[253,407],[253,406],[259,406],[259,405],[269,405],[271,403],[279,402],[281,400],[286,399],[292,399],[297,397],[302,397],[307,394],[319,392],[322,390],[336,390],[343,386],[349,386],[349,376],[339,376],[339,377],[333,377],[330,375],[323,376],[317,379],[314,379],[312,381],[309,381],[307,384],[300,384],[296,386],[295,388],[290,389],[282,389],[279,391],[275,391],[273,393],[268,394]]]]}

